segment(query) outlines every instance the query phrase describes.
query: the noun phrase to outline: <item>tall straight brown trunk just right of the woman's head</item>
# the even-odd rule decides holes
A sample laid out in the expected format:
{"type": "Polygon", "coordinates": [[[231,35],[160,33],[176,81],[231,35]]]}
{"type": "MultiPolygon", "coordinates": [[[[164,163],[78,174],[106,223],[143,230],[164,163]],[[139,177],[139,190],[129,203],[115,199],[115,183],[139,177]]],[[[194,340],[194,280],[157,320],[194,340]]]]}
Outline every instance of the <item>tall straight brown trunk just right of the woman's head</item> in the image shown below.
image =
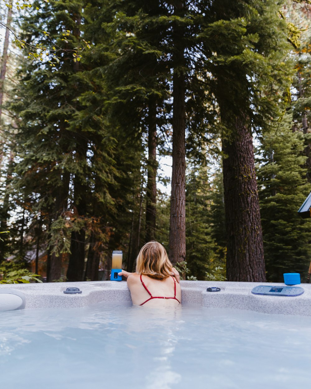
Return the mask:
{"type": "MultiPolygon", "coordinates": [[[[176,1],[175,13],[183,16],[183,1],[176,1]]],[[[175,25],[173,32],[173,152],[171,180],[171,209],[169,218],[169,259],[173,262],[186,258],[186,163],[185,163],[185,74],[183,28],[175,25]]]]}

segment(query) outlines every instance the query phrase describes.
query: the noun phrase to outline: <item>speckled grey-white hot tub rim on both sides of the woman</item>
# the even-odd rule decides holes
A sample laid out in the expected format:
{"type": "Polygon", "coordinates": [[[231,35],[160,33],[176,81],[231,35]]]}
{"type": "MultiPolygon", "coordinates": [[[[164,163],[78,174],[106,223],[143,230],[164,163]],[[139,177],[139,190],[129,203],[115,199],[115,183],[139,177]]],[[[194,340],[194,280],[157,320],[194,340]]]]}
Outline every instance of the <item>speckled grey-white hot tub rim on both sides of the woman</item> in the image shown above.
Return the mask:
{"type": "MultiPolygon", "coordinates": [[[[182,303],[198,304],[206,308],[245,309],[266,314],[311,316],[311,284],[300,284],[304,288],[301,296],[259,296],[252,294],[259,285],[285,286],[267,282],[219,282],[180,281],[182,303]],[[211,286],[219,292],[207,292],[211,286]]],[[[79,308],[102,301],[131,302],[126,281],[49,282],[43,284],[0,285],[3,289],[16,289],[26,297],[25,309],[29,308],[79,308]],[[67,287],[78,287],[81,294],[64,294],[67,287]]]]}

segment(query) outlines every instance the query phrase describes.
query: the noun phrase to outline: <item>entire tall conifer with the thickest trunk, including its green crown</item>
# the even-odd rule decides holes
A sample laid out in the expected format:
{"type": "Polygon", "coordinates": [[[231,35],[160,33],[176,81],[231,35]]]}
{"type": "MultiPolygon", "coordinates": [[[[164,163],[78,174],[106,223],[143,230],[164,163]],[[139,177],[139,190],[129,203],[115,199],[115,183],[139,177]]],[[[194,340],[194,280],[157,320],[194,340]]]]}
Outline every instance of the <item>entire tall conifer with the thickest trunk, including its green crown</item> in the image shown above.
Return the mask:
{"type": "Polygon", "coordinates": [[[273,1],[216,0],[204,12],[206,70],[222,126],[227,279],[264,281],[252,132],[278,115],[285,25],[273,1]]]}

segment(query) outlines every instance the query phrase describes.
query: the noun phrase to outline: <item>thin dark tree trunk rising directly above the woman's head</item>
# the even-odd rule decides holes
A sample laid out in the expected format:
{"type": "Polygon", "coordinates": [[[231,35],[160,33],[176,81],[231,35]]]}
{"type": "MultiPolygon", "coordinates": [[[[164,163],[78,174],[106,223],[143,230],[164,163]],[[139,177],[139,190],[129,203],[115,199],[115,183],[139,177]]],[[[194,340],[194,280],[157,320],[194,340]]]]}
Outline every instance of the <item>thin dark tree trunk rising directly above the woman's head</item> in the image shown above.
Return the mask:
{"type": "Polygon", "coordinates": [[[148,112],[148,180],[146,200],[146,242],[156,237],[156,197],[157,197],[157,102],[154,97],[149,99],[148,112]]]}

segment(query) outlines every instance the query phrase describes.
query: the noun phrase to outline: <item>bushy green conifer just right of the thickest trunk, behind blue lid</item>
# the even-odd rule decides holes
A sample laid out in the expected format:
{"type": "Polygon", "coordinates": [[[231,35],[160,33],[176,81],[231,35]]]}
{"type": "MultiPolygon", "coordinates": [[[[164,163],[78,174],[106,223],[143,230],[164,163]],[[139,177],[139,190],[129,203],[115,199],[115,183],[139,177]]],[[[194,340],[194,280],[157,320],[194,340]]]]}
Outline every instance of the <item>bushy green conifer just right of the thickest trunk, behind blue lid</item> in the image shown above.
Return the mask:
{"type": "Polygon", "coordinates": [[[292,115],[261,139],[258,185],[264,251],[269,281],[281,282],[283,273],[306,273],[311,256],[311,224],[297,210],[311,190],[306,180],[304,139],[292,131],[292,115]]]}

